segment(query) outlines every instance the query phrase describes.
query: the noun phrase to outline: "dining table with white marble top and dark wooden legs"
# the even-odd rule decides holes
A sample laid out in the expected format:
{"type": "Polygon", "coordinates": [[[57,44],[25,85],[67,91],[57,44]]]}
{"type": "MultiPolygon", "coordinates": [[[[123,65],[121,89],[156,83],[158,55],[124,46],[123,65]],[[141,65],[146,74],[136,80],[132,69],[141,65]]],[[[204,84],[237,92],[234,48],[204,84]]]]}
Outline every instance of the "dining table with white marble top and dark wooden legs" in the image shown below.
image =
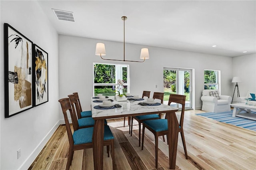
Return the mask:
{"type": "Polygon", "coordinates": [[[108,99],[112,99],[112,103],[118,104],[116,105],[118,107],[100,108],[99,105],[102,105],[102,103],[99,103],[100,101],[96,101],[95,98],[96,97],[91,98],[92,118],[95,121],[92,135],[94,170],[103,169],[104,119],[160,113],[166,113],[166,119],[168,119],[167,137],[169,141],[169,166],[170,169],[175,169],[179,132],[179,123],[175,112],[178,111],[178,108],[160,103],[159,105],[142,106],[138,104],[141,102],[146,102],[146,100],[142,99],[118,102],[114,96],[109,96],[108,99]]]}

